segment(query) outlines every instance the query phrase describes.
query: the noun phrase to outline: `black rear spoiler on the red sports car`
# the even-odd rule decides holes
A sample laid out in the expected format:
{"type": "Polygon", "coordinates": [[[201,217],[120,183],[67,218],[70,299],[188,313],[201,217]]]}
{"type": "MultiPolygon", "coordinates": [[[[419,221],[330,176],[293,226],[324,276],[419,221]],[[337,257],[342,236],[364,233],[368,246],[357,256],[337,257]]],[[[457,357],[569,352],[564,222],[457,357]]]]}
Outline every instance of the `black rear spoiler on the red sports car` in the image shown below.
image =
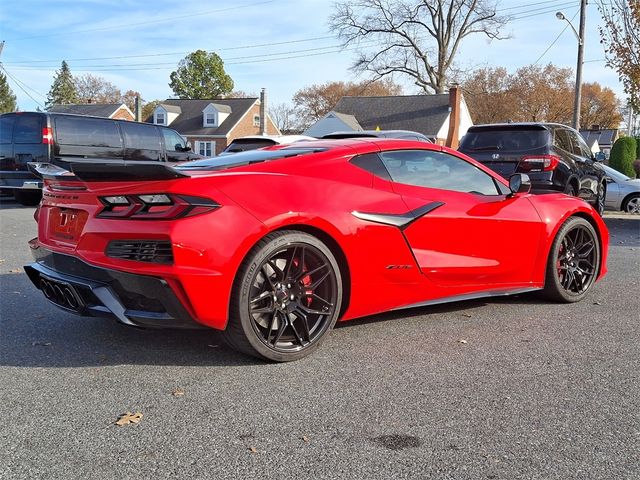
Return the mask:
{"type": "Polygon", "coordinates": [[[55,163],[29,162],[28,167],[36,176],[49,180],[79,179],[85,182],[126,182],[174,180],[189,176],[165,163],[154,161],[58,160],[55,163]]]}

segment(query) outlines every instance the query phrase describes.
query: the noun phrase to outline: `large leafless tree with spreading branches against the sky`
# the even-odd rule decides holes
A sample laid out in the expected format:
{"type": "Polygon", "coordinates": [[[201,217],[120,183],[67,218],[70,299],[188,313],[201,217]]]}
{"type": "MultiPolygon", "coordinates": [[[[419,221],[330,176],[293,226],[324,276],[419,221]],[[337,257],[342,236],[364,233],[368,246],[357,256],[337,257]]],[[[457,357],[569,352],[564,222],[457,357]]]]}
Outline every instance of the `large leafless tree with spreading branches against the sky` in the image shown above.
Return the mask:
{"type": "Polygon", "coordinates": [[[377,78],[408,75],[425,93],[445,93],[447,74],[462,40],[500,36],[508,17],[495,0],[347,0],[329,25],[345,47],[359,49],[353,69],[377,78]],[[375,45],[371,49],[371,45],[375,45]],[[370,48],[367,48],[367,47],[370,48]]]}

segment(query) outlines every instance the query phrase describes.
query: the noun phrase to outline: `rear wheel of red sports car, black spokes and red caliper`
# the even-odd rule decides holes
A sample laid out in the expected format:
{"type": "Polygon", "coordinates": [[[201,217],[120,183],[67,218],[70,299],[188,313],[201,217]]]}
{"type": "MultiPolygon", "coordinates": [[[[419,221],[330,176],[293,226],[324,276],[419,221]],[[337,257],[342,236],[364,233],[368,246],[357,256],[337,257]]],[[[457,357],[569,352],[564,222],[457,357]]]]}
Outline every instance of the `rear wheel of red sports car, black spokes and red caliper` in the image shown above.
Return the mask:
{"type": "Polygon", "coordinates": [[[298,360],[322,343],[341,303],[342,278],[331,250],[307,233],[274,232],[240,266],[222,337],[261,359],[298,360]]]}

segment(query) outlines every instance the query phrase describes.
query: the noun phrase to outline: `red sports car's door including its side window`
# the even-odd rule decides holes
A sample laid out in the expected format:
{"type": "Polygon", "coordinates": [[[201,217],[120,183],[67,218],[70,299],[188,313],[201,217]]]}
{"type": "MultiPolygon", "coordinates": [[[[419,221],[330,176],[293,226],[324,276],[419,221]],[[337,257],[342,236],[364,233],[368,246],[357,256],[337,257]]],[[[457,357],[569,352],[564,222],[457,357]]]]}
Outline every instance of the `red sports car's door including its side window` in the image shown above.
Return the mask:
{"type": "Polygon", "coordinates": [[[526,195],[471,162],[433,150],[380,157],[416,220],[404,234],[422,272],[441,286],[492,290],[532,280],[543,223],[526,195]]]}

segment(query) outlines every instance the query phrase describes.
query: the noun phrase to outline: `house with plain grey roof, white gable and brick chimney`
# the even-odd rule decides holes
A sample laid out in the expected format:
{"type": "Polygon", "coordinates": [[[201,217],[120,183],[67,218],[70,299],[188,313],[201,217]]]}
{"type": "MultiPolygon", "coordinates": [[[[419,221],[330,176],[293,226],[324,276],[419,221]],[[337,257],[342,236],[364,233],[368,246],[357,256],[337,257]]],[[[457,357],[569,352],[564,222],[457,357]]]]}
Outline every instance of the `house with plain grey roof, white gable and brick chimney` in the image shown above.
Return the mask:
{"type": "Polygon", "coordinates": [[[459,87],[453,86],[449,93],[438,95],[342,97],[333,110],[309,127],[304,135],[321,137],[335,131],[413,130],[435,138],[441,145],[454,145],[455,142],[455,148],[472,125],[464,96],[459,87]]]}

